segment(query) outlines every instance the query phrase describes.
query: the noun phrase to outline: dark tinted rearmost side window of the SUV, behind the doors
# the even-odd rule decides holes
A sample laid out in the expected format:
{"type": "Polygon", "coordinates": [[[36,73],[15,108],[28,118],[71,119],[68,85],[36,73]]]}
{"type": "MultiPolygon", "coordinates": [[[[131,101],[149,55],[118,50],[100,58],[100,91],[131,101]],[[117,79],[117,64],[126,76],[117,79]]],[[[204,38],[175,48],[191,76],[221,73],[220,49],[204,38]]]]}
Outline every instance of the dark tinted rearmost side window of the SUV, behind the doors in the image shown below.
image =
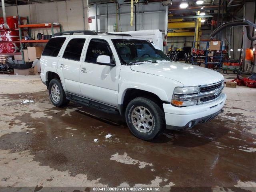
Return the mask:
{"type": "Polygon", "coordinates": [[[51,38],[46,44],[42,55],[52,56],[52,57],[58,56],[60,49],[65,40],[66,40],[66,37],[51,38]]]}

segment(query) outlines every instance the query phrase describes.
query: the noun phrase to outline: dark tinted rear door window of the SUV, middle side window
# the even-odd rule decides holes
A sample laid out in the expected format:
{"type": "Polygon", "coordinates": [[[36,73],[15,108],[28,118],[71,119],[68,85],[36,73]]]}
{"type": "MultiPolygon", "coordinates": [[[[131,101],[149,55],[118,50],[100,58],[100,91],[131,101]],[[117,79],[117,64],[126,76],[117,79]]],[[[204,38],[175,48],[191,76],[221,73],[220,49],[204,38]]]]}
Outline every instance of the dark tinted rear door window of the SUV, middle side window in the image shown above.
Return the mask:
{"type": "Polygon", "coordinates": [[[82,38],[70,40],[70,42],[68,42],[68,45],[66,46],[62,58],[80,61],[81,53],[84,47],[84,42],[85,39],[82,38]]]}

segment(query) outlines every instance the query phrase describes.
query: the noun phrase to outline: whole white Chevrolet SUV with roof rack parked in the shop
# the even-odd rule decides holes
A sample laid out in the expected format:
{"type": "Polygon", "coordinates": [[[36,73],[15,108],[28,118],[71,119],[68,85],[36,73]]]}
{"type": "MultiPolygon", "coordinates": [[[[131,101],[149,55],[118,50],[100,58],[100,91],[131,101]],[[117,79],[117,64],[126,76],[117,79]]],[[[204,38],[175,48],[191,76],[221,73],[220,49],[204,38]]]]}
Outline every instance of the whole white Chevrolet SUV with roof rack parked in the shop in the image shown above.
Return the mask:
{"type": "Polygon", "coordinates": [[[170,62],[153,42],[127,34],[55,34],[42,53],[41,79],[55,106],[71,100],[118,111],[143,140],[207,122],[226,100],[220,73],[170,62]]]}

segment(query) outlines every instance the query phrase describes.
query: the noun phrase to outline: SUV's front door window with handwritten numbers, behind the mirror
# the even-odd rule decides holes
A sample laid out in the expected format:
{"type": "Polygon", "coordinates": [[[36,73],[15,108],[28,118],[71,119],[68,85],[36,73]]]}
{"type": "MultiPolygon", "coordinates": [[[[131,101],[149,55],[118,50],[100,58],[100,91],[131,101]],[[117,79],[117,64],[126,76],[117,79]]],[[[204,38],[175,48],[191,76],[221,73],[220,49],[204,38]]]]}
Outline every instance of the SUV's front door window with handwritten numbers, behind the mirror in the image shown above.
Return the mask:
{"type": "Polygon", "coordinates": [[[114,59],[108,42],[101,39],[92,39],[88,46],[85,61],[96,63],[96,59],[99,55],[108,55],[110,56],[111,61],[114,59]]]}

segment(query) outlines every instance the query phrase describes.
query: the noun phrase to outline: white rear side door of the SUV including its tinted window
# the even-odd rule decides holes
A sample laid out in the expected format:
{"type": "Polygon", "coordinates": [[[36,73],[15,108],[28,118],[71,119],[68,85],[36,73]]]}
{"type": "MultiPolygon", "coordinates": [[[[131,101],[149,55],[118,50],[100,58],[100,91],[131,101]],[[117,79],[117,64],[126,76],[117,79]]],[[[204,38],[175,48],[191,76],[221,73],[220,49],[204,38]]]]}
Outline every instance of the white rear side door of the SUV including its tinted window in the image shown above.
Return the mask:
{"type": "Polygon", "coordinates": [[[85,38],[71,36],[58,61],[67,92],[80,95],[80,66],[82,63],[82,52],[86,44],[85,38]]]}

